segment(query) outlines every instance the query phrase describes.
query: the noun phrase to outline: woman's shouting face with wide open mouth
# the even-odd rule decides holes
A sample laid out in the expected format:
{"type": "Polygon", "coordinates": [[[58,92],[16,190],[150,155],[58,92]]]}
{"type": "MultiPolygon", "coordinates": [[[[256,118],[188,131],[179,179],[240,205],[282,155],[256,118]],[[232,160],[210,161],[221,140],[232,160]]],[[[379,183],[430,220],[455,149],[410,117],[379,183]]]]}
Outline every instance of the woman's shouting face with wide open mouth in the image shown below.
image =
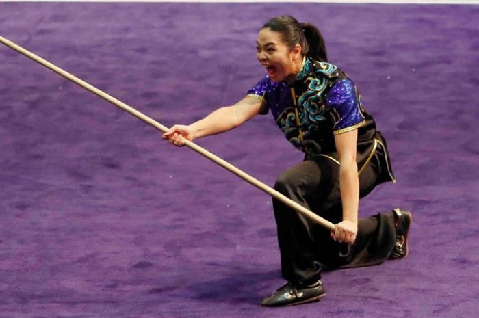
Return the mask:
{"type": "Polygon", "coordinates": [[[294,79],[302,64],[301,47],[293,50],[281,40],[279,32],[269,28],[261,29],[256,41],[257,58],[272,81],[278,83],[284,79],[294,79]],[[299,67],[298,67],[299,65],[299,67]]]}

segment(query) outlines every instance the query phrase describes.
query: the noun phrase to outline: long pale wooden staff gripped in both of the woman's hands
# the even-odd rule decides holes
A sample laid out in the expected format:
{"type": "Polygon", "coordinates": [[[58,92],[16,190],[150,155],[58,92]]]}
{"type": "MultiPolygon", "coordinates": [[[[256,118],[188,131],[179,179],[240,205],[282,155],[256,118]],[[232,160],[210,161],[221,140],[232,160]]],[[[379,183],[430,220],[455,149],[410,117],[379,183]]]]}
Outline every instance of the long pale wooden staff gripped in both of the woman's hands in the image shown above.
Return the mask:
{"type": "MultiPolygon", "coordinates": [[[[31,53],[30,51],[27,51],[26,49],[23,49],[23,47],[20,47],[18,44],[15,44],[14,42],[7,40],[0,36],[0,42],[2,44],[5,44],[7,47],[10,47],[10,49],[13,49],[14,51],[17,51],[18,53],[21,53],[25,55],[26,57],[29,57],[30,59],[33,59],[35,62],[38,62],[39,64],[42,64],[46,68],[49,68],[50,70],[53,70],[53,72],[62,75],[62,77],[65,77],[66,79],[69,79],[70,81],[73,81],[73,83],[81,86],[82,88],[85,88],[86,90],[89,90],[93,94],[96,94],[97,96],[100,96],[101,98],[105,99],[106,101],[109,101],[109,103],[112,103],[113,105],[123,109],[124,111],[127,111],[129,114],[135,116],[136,118],[139,118],[140,120],[143,120],[144,122],[150,124],[151,126],[155,127],[159,131],[162,131],[163,133],[166,133],[168,131],[168,128],[160,124],[159,122],[153,120],[152,118],[142,114],[140,111],[134,109],[133,107],[130,107],[129,105],[123,103],[122,101],[118,101],[118,99],[110,96],[109,94],[103,92],[102,90],[99,90],[98,88],[95,88],[93,85],[90,85],[86,81],[83,81],[79,79],[78,77],[75,77],[74,75],[70,74],[69,72],[66,72],[62,68],[59,68],[58,66],[55,66],[54,64],[51,64],[48,62],[46,59],[42,59],[42,57],[39,57],[38,55],[31,53]]],[[[324,226],[325,228],[328,228],[328,230],[334,230],[335,225],[328,220],[325,220],[324,218],[320,217],[319,215],[316,215],[315,213],[309,211],[309,209],[306,209],[305,207],[302,207],[300,204],[294,202],[293,200],[287,198],[283,194],[279,193],[275,189],[272,189],[272,187],[269,187],[265,183],[262,183],[261,181],[257,180],[256,178],[253,178],[253,176],[250,176],[249,174],[246,174],[242,170],[239,170],[236,168],[234,165],[231,165],[231,163],[228,163],[221,159],[220,157],[213,155],[213,153],[210,153],[208,150],[205,148],[202,148],[198,146],[197,144],[194,144],[194,142],[190,142],[189,140],[185,140],[185,146],[188,146],[189,148],[192,148],[196,153],[199,153],[200,155],[203,155],[213,161],[214,163],[217,163],[218,165],[221,165],[223,168],[226,170],[229,170],[230,172],[233,172],[233,174],[236,174],[239,176],[239,178],[242,178],[244,181],[254,185],[255,187],[263,190],[273,198],[276,198],[276,200],[279,200],[286,204],[288,207],[291,207],[292,209],[298,211],[298,213],[304,215],[305,217],[308,217],[309,219],[313,220],[314,222],[317,222],[318,224],[324,226]]]]}

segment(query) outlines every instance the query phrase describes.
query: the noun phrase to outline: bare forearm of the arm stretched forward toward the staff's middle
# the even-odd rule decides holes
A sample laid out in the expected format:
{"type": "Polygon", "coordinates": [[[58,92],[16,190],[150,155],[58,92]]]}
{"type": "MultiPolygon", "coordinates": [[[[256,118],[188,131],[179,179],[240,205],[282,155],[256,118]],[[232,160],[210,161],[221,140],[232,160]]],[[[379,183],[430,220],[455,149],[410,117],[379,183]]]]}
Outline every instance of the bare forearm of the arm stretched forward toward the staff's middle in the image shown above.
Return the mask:
{"type": "Polygon", "coordinates": [[[205,118],[190,124],[194,138],[223,133],[237,127],[238,120],[233,106],[216,109],[205,118]]]}

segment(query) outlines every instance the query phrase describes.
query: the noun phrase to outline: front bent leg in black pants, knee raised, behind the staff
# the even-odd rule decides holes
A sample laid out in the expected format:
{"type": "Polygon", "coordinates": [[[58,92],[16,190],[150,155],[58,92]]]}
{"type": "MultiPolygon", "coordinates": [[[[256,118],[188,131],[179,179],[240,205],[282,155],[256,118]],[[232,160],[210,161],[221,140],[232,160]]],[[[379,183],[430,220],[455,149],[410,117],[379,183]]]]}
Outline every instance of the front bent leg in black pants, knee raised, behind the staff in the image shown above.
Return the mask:
{"type": "MultiPolygon", "coordinates": [[[[315,211],[333,189],[331,171],[337,170],[328,159],[323,163],[307,160],[285,170],[274,189],[303,207],[315,211]]],[[[283,278],[296,284],[309,284],[320,279],[315,233],[320,226],[298,214],[278,200],[273,200],[278,230],[283,278]]]]}

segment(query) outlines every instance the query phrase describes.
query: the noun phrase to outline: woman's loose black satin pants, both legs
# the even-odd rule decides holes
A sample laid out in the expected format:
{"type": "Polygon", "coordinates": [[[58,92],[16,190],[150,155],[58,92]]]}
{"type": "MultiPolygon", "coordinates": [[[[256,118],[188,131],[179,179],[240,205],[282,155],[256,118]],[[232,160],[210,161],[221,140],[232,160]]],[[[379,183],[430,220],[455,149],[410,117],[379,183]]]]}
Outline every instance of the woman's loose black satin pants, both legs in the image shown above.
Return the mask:
{"type": "MultiPolygon", "coordinates": [[[[359,176],[360,196],[376,186],[377,165],[372,160],[359,176]]],[[[274,188],[333,223],[342,221],[339,165],[324,156],[307,159],[285,170],[274,188]]],[[[376,265],[387,259],[396,238],[394,215],[380,213],[359,219],[357,239],[348,256],[339,256],[344,244],[329,230],[273,200],[283,278],[309,284],[321,278],[321,269],[376,265]]]]}

